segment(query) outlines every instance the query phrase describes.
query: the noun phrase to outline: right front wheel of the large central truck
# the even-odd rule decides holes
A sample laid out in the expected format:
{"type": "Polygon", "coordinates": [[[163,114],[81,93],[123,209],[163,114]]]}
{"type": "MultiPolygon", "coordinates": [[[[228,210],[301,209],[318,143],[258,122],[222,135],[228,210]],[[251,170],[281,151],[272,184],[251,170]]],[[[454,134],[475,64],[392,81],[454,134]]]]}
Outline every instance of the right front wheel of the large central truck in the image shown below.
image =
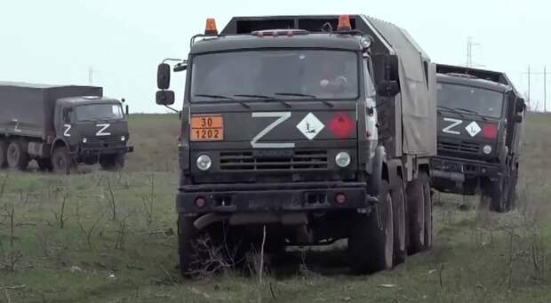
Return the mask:
{"type": "Polygon", "coordinates": [[[357,214],[348,235],[350,267],[356,274],[389,269],[394,259],[394,213],[388,182],[381,182],[381,198],[371,214],[357,214]]]}

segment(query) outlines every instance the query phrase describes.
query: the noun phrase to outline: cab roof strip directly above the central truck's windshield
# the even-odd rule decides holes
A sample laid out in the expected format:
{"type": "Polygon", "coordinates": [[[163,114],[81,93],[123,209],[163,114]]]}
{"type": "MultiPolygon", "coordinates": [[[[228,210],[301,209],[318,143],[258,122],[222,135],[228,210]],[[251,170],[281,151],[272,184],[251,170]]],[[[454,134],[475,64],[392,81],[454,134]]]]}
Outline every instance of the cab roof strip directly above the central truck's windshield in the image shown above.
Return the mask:
{"type": "Polygon", "coordinates": [[[231,35],[215,36],[197,41],[191,53],[223,52],[260,48],[327,48],[347,51],[361,51],[359,36],[337,33],[289,36],[231,35]]]}

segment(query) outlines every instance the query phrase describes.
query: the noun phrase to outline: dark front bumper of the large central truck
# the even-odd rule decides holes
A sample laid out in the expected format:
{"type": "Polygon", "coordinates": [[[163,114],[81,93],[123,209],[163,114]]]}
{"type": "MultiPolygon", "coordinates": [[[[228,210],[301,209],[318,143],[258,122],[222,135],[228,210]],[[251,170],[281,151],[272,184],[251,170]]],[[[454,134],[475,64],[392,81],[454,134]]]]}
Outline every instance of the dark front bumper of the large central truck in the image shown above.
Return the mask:
{"type": "Polygon", "coordinates": [[[285,212],[365,209],[376,203],[362,182],[296,182],[254,184],[205,184],[180,187],[176,197],[179,213],[285,212]],[[336,195],[346,195],[337,203],[336,195]],[[204,207],[196,206],[204,198],[204,207]]]}

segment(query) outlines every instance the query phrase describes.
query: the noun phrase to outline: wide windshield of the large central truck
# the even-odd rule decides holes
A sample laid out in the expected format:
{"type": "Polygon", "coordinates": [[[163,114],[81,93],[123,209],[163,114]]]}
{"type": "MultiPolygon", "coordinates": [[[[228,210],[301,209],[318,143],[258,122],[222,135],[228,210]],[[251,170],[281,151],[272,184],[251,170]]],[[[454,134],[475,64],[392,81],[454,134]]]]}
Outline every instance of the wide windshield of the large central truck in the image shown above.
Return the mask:
{"type": "Polygon", "coordinates": [[[331,100],[357,98],[358,60],[355,52],[219,52],[198,55],[193,59],[191,99],[194,101],[223,100],[222,97],[237,99],[239,95],[304,99],[297,94],[331,100]]]}

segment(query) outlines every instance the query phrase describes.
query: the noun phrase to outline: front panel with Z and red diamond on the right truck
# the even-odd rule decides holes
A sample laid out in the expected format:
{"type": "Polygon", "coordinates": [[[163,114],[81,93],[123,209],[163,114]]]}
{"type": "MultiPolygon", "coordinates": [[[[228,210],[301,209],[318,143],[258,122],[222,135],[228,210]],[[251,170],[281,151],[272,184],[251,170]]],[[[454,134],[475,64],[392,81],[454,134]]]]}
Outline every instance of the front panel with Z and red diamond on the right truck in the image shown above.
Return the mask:
{"type": "Polygon", "coordinates": [[[499,119],[447,111],[438,113],[438,155],[491,160],[499,153],[499,119]],[[491,153],[483,151],[491,147],[491,153]]]}

